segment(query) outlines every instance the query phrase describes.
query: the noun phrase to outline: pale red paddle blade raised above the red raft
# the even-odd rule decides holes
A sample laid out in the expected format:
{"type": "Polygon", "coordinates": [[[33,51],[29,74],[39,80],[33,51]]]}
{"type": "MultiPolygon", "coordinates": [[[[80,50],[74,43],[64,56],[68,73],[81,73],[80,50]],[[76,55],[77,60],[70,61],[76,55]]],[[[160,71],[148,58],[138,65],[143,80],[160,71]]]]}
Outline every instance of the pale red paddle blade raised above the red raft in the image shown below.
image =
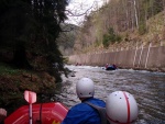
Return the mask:
{"type": "Polygon", "coordinates": [[[36,93],[32,91],[24,91],[24,99],[31,104],[36,102],[36,93]]]}

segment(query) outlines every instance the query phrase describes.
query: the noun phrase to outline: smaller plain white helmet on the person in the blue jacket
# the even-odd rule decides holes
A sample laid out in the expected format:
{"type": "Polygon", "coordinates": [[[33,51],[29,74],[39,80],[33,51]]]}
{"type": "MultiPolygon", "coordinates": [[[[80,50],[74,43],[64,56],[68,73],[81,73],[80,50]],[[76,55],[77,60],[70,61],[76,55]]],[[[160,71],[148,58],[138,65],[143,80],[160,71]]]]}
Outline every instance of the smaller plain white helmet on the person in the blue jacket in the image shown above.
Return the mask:
{"type": "Polygon", "coordinates": [[[94,97],[95,93],[94,81],[90,78],[81,78],[76,83],[76,92],[78,98],[94,97]]]}

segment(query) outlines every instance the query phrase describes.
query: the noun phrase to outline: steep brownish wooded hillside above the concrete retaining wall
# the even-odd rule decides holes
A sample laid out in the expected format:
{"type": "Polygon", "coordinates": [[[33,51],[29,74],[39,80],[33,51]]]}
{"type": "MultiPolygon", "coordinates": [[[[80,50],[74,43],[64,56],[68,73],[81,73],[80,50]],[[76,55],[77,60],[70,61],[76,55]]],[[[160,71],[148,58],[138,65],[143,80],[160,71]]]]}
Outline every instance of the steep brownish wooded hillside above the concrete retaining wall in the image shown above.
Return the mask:
{"type": "Polygon", "coordinates": [[[74,54],[165,45],[163,0],[110,0],[86,16],[74,54]]]}

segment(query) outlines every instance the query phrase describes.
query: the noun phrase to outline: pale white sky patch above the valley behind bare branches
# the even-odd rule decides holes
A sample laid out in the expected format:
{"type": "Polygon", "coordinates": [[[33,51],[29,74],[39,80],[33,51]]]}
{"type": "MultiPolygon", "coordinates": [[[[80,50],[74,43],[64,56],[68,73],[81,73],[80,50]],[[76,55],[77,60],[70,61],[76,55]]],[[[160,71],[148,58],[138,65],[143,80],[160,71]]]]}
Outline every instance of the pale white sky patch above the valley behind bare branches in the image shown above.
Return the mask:
{"type": "Polygon", "coordinates": [[[79,25],[84,21],[85,12],[88,14],[91,10],[103,4],[105,0],[70,0],[70,3],[67,7],[68,10],[68,20],[66,22],[79,25]],[[87,11],[88,10],[88,11],[87,11]],[[70,12],[74,14],[70,14],[70,12]]]}

